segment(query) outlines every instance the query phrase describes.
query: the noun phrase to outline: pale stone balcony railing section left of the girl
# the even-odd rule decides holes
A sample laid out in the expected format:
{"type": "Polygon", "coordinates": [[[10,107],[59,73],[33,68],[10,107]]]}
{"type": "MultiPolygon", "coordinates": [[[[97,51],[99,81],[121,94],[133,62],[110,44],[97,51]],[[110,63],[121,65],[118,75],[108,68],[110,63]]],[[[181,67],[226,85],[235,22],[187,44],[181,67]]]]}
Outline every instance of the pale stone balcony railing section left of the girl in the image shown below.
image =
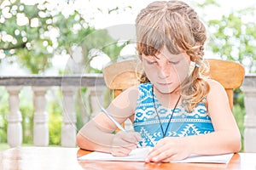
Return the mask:
{"type": "MultiPolygon", "coordinates": [[[[32,87],[34,104],[33,142],[37,146],[49,144],[48,114],[45,111],[45,94],[49,87],[60,87],[62,91],[63,113],[61,127],[61,145],[74,147],[76,145],[76,114],[74,94],[79,87],[87,87],[90,92],[92,114],[99,112],[96,107],[96,94],[102,94],[105,82],[102,74],[87,74],[83,76],[65,77],[0,77],[0,86],[5,86],[9,94],[9,115],[7,117],[7,139],[10,147],[22,144],[22,116],[20,113],[19,94],[21,88],[32,87]],[[97,88],[95,88],[97,87],[97,88]],[[96,92],[97,91],[97,92],[96,92]]],[[[101,99],[101,98],[100,98],[101,99]]]]}

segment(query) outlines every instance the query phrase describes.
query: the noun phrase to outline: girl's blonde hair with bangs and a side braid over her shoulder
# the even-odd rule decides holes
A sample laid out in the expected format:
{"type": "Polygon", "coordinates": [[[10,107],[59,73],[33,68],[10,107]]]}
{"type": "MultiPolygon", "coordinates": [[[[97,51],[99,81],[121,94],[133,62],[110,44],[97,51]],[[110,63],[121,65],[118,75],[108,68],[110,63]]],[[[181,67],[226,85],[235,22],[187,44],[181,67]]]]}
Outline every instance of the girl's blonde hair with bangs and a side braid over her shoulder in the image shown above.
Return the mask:
{"type": "MultiPolygon", "coordinates": [[[[203,60],[206,28],[195,10],[181,1],[156,1],[143,8],[136,20],[137,52],[139,57],[159,53],[164,47],[172,54],[181,54],[182,49],[196,66],[181,84],[183,104],[192,111],[199,102],[207,105],[209,84],[206,75],[208,66],[203,60]]],[[[142,82],[148,82],[145,75],[142,82]]]]}

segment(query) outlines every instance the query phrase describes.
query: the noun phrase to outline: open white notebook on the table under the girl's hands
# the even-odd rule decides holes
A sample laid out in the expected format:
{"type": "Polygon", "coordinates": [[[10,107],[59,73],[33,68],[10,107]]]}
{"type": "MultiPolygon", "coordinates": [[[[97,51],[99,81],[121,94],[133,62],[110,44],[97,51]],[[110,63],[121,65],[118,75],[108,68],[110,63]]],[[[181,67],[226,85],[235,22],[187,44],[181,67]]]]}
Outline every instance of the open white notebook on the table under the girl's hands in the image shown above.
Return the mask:
{"type": "MultiPolygon", "coordinates": [[[[79,161],[144,161],[150,150],[152,148],[137,148],[132,150],[129,156],[112,156],[108,153],[94,151],[79,157],[79,161]]],[[[184,160],[172,162],[229,163],[233,155],[233,153],[216,156],[192,155],[184,160]]]]}

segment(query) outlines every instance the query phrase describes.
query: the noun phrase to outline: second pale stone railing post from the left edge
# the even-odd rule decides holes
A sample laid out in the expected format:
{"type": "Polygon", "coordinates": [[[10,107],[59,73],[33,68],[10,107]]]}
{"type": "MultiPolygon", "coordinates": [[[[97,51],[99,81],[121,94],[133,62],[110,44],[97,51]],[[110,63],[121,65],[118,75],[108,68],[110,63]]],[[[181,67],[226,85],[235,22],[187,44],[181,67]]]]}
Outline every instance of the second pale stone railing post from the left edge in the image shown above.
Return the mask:
{"type": "Polygon", "coordinates": [[[36,146],[47,146],[49,144],[48,113],[45,111],[46,93],[45,87],[32,87],[34,113],[34,144],[36,146]]]}

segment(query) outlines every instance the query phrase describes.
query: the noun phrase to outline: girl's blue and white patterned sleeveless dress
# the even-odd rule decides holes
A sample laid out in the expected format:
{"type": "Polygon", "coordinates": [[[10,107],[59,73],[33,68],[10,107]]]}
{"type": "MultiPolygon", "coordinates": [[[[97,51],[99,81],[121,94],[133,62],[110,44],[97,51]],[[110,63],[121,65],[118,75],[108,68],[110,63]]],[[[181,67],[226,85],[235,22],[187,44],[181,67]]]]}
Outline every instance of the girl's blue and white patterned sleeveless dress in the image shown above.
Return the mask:
{"type": "MultiPolygon", "coordinates": [[[[160,122],[165,132],[172,109],[161,105],[155,96],[153,100],[151,83],[140,84],[138,89],[139,96],[133,127],[143,138],[143,141],[140,141],[141,146],[154,147],[163,138],[160,122]],[[154,111],[154,105],[159,113],[160,122],[154,111]]],[[[166,137],[184,137],[212,132],[214,132],[214,128],[205,104],[199,103],[191,112],[185,111],[183,105],[177,105],[166,131],[166,137]]]]}

